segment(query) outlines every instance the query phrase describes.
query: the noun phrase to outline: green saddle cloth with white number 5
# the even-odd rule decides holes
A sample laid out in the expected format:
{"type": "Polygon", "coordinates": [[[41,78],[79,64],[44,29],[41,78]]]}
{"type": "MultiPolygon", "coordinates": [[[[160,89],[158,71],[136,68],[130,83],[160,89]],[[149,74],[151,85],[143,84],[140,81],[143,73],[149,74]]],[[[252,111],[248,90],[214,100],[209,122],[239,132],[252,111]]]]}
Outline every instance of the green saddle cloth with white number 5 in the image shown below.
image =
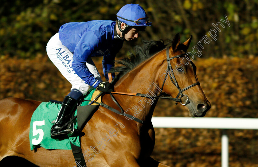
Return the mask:
{"type": "MultiPolygon", "coordinates": [[[[95,89],[90,89],[84,96],[84,100],[90,100],[95,89]]],[[[85,101],[81,106],[88,105],[88,101],[85,101]]],[[[79,137],[69,137],[63,140],[53,139],[50,137],[50,129],[53,126],[51,123],[57,118],[57,114],[60,110],[61,104],[42,102],[34,111],[29,127],[29,143],[30,150],[33,150],[36,146],[43,147],[45,149],[61,149],[71,150],[70,142],[80,147],[79,137]]],[[[77,110],[75,111],[75,115],[77,110]]],[[[75,128],[77,128],[77,120],[74,121],[75,128]]]]}

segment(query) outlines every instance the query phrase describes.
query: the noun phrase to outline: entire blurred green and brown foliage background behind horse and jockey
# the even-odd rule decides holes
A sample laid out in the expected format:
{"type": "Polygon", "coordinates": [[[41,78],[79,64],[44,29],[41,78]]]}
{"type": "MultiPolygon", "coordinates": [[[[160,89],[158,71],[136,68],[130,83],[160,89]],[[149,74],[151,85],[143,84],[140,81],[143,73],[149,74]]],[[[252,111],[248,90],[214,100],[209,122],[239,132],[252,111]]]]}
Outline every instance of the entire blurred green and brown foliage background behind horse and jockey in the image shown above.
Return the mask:
{"type": "MultiPolygon", "coordinates": [[[[195,56],[197,76],[211,102],[206,117],[258,117],[258,0],[2,0],[0,6],[0,99],[62,100],[71,85],[46,55],[46,44],[67,22],[116,20],[128,3],[140,4],[153,26],[124,42],[117,59],[144,40],[181,42],[193,35],[189,52],[221,22],[217,41],[195,56]],[[220,21],[225,20],[230,27],[220,21]]],[[[103,76],[101,59],[94,62],[103,76]]],[[[186,109],[159,100],[154,116],[187,117],[186,109]]],[[[219,122],[218,122],[219,123],[219,122]]],[[[152,157],[175,167],[220,167],[221,130],[155,128],[152,157]]],[[[258,167],[257,130],[228,130],[229,164],[258,167]]],[[[1,163],[0,163],[1,165],[1,163]]]]}

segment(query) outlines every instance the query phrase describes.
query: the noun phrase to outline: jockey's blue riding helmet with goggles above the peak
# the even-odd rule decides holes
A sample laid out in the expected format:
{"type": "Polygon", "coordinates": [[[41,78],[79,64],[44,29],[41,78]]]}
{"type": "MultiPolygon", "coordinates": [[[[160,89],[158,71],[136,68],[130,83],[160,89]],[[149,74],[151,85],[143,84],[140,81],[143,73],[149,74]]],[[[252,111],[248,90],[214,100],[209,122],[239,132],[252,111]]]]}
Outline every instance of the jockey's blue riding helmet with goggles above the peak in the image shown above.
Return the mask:
{"type": "Polygon", "coordinates": [[[130,26],[144,31],[146,26],[150,26],[151,22],[144,11],[143,7],[138,4],[127,4],[123,6],[116,14],[118,19],[118,28],[122,32],[122,36],[127,32],[130,26]],[[124,22],[126,25],[125,29],[121,29],[121,23],[124,22]]]}

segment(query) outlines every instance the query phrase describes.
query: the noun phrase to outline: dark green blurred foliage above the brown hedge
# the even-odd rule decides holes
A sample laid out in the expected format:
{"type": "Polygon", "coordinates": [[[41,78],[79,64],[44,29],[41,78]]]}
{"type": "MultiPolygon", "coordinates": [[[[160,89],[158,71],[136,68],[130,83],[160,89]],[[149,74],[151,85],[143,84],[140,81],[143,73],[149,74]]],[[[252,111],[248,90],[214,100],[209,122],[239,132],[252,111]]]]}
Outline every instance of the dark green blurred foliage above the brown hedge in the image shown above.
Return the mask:
{"type": "MultiPolygon", "coordinates": [[[[2,0],[0,7],[0,55],[31,58],[45,54],[45,46],[61,25],[89,20],[116,20],[116,13],[127,3],[143,6],[153,26],[141,33],[143,39],[182,40],[193,34],[197,44],[220,19],[227,15],[230,27],[218,33],[217,41],[205,45],[203,57],[257,55],[257,0],[2,0]]],[[[220,21],[221,22],[221,21],[220,21]]],[[[140,40],[138,40],[140,41],[140,40]]],[[[131,44],[134,45],[135,43],[131,44]]],[[[128,50],[125,44],[124,50],[128,50]]],[[[191,48],[191,47],[190,47],[191,48]]]]}

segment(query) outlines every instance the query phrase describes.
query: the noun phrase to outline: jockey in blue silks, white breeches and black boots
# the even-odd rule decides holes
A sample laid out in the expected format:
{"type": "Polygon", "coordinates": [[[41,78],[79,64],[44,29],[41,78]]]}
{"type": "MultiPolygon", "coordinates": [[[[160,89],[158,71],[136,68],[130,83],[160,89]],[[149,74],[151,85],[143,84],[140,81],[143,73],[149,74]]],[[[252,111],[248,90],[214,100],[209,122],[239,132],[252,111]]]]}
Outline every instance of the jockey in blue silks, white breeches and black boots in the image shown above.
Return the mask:
{"type": "Polygon", "coordinates": [[[123,41],[137,38],[139,31],[151,25],[146,12],[138,4],[123,6],[117,13],[117,19],[66,23],[49,40],[49,59],[72,84],[71,92],[65,96],[50,130],[51,138],[67,136],[70,130],[60,128],[70,119],[74,107],[91,86],[102,92],[113,90],[108,82],[105,82],[104,88],[99,87],[103,81],[91,57],[103,56],[103,72],[108,80],[107,73],[114,66],[115,55],[122,48],[123,41]]]}

